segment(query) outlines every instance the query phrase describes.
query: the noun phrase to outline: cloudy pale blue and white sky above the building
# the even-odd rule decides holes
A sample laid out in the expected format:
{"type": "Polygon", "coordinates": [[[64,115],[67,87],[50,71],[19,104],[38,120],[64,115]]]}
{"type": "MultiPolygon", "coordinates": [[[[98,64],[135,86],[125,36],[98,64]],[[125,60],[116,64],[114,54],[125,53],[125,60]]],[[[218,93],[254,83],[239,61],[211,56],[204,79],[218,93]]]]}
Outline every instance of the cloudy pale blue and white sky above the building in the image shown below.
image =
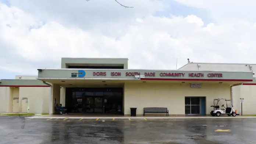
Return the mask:
{"type": "Polygon", "coordinates": [[[129,69],[256,63],[253,0],[0,0],[0,79],[61,57],[129,58],[129,69]]]}

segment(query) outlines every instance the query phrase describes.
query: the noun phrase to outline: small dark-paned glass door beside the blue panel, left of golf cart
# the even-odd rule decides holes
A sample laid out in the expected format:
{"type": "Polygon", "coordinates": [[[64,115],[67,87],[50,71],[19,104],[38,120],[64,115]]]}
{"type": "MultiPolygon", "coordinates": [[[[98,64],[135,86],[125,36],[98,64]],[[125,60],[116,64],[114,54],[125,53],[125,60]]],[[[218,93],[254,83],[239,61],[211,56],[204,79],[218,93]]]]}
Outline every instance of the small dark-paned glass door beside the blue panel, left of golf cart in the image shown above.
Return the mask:
{"type": "Polygon", "coordinates": [[[200,114],[200,97],[185,97],[185,114],[200,114]]]}

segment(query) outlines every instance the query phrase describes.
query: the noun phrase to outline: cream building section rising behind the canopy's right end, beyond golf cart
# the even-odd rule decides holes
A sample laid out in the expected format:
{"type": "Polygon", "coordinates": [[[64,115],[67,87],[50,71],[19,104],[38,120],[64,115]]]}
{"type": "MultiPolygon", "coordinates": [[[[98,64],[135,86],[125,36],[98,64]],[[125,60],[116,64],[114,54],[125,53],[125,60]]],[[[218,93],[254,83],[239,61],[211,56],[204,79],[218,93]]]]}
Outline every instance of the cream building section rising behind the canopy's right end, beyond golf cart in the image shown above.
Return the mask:
{"type": "MultiPolygon", "coordinates": [[[[193,63],[179,68],[185,71],[240,71],[240,72],[253,72],[256,64],[225,64],[225,63],[193,63]]],[[[243,102],[243,115],[256,115],[255,102],[256,102],[256,75],[253,73],[252,82],[237,83],[231,86],[232,103],[241,114],[240,98],[244,99],[243,102]]]]}

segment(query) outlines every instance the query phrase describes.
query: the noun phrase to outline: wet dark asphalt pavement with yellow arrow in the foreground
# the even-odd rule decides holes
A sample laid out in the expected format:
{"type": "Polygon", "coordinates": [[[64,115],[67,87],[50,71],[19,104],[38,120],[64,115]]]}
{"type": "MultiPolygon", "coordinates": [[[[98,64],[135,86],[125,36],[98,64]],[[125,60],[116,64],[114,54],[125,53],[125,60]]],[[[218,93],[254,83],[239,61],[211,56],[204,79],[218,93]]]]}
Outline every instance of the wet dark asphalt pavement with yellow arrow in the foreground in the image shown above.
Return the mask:
{"type": "Polygon", "coordinates": [[[102,119],[0,117],[0,144],[255,144],[255,141],[256,119],[106,119],[103,122],[102,119]]]}

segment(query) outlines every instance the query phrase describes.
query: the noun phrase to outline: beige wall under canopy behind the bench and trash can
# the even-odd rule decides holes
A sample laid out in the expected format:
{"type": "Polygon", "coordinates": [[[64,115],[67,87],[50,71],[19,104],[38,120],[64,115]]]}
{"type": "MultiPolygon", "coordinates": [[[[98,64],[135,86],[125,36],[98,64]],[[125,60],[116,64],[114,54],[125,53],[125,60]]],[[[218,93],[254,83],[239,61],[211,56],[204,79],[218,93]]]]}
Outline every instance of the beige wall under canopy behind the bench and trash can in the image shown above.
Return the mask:
{"type": "Polygon", "coordinates": [[[138,115],[143,114],[144,107],[167,107],[170,115],[185,115],[185,97],[206,97],[206,114],[209,114],[214,98],[230,99],[230,95],[230,86],[225,84],[191,88],[190,84],[125,83],[124,113],[129,115],[130,107],[136,107],[138,115]]]}

